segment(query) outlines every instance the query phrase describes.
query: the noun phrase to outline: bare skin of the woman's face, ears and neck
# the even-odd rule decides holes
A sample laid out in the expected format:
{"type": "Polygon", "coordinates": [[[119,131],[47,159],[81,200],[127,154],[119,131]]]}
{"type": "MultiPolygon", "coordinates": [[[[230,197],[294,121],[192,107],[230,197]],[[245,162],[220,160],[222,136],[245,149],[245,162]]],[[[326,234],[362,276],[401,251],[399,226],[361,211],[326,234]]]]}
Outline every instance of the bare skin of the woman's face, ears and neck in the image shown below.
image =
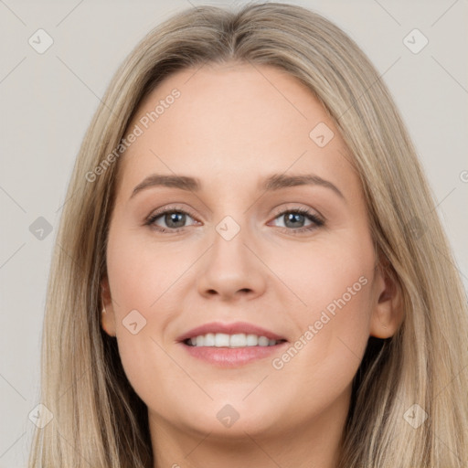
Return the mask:
{"type": "Polygon", "coordinates": [[[402,316],[398,285],[376,267],[352,158],[310,90],[270,66],[179,71],[129,129],[175,88],[180,97],[119,161],[102,290],[102,327],[148,407],[154,466],[332,468],[367,339],[393,335],[402,316]],[[335,133],[323,148],[309,137],[319,122],[335,133]],[[153,186],[131,198],[154,173],[195,176],[203,188],[153,186]],[[313,173],[346,200],[324,186],[260,190],[273,173],[313,173]],[[174,226],[164,216],[144,225],[174,204],[191,213],[182,230],[158,232],[174,226]],[[277,213],[298,207],[324,226],[294,234],[314,222],[277,213]],[[216,230],[226,216],[240,228],[230,240],[216,230]],[[216,320],[260,324],[293,344],[360,277],[367,284],[279,370],[271,357],[215,367],[176,343],[216,320]],[[134,309],[146,320],[136,335],[122,324],[134,309]],[[227,404],[239,413],[229,428],[217,418],[227,404]]]}

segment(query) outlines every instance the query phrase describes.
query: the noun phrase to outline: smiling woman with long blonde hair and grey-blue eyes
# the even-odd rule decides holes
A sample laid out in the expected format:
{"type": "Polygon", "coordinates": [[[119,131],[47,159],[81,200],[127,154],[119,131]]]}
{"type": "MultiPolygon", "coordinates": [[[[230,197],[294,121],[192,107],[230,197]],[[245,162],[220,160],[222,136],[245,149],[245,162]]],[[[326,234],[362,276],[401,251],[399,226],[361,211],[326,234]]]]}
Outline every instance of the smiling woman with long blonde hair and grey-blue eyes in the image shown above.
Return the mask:
{"type": "Polygon", "coordinates": [[[356,44],[299,6],[197,7],[102,101],[30,466],[464,466],[463,286],[356,44]]]}

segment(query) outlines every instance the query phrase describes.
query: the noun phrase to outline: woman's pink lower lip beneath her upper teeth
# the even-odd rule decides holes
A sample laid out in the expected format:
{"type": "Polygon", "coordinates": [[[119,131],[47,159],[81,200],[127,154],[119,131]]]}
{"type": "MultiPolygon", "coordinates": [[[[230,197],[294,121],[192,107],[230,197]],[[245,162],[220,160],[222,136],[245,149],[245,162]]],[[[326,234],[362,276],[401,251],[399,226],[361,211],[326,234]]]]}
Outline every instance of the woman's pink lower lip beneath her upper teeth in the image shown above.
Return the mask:
{"type": "Polygon", "coordinates": [[[285,341],[274,346],[246,346],[246,347],[215,347],[215,346],[187,346],[181,343],[186,352],[197,359],[218,367],[240,367],[252,361],[271,357],[282,352],[288,345],[285,341]]]}

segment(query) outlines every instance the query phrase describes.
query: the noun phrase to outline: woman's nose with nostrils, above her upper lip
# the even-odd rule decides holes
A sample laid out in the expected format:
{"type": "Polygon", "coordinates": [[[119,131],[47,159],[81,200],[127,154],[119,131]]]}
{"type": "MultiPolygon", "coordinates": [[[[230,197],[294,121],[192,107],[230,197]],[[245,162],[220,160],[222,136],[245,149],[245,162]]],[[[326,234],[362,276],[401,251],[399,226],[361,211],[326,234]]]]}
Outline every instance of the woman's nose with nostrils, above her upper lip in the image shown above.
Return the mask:
{"type": "Polygon", "coordinates": [[[221,301],[253,299],[264,293],[268,269],[250,244],[244,229],[230,240],[216,232],[213,245],[200,265],[198,293],[206,298],[217,296],[221,301]]]}

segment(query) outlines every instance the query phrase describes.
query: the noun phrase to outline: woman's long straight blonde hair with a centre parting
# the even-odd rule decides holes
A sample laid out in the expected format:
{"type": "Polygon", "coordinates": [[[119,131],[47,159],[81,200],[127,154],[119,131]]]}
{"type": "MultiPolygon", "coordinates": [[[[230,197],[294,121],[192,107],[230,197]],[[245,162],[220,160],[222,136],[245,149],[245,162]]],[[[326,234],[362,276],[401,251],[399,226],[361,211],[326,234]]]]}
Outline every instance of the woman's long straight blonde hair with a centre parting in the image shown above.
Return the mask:
{"type": "Polygon", "coordinates": [[[178,13],[144,37],[113,77],[81,145],[60,220],[42,348],[41,402],[54,419],[37,430],[29,466],[153,466],[146,407],[100,325],[119,161],[93,182],[87,175],[118,147],[161,80],[228,61],[286,70],[323,103],[353,155],[380,265],[401,288],[403,323],[387,340],[369,339],[353,382],[339,466],[465,466],[466,295],[415,149],[356,43],[323,16],[280,3],[178,13]],[[405,419],[415,404],[428,414],[417,429],[405,419]]]}

